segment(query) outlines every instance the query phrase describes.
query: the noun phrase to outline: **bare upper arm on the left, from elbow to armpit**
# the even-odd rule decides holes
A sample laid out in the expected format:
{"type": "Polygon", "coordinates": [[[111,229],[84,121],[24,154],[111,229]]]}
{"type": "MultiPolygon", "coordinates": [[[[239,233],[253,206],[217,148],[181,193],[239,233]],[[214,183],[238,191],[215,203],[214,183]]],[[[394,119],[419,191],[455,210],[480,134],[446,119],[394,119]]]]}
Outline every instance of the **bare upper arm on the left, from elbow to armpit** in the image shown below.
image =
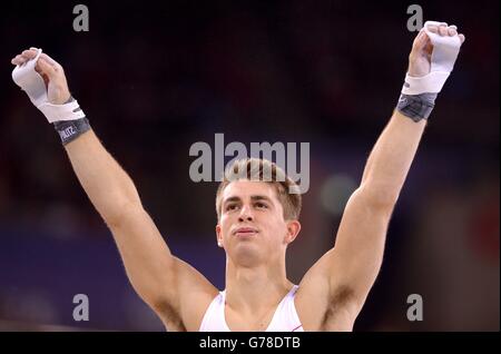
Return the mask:
{"type": "Polygon", "coordinates": [[[180,321],[186,326],[186,322],[196,322],[217,291],[194,267],[173,256],[146,210],[127,206],[119,222],[109,227],[138,295],[164,323],[180,321]]]}

